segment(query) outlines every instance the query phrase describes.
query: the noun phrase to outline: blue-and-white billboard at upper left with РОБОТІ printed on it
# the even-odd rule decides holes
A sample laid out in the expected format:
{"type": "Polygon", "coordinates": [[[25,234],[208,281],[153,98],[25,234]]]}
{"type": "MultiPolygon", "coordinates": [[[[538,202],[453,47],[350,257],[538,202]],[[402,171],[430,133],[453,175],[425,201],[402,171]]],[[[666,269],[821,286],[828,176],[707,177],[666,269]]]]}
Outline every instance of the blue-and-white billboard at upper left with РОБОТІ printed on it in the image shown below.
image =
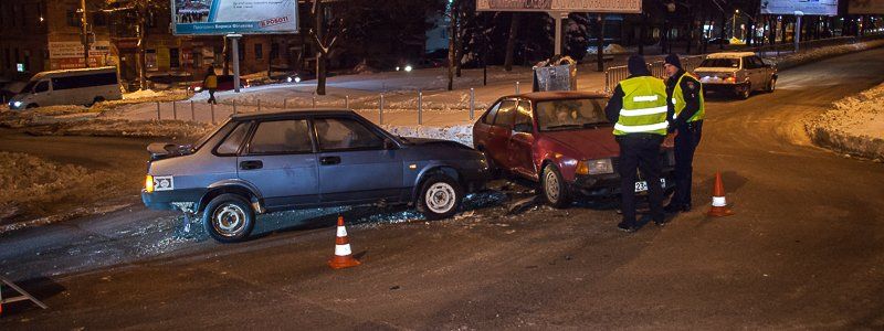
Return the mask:
{"type": "Polygon", "coordinates": [[[171,0],[175,34],[297,32],[297,0],[171,0]]]}

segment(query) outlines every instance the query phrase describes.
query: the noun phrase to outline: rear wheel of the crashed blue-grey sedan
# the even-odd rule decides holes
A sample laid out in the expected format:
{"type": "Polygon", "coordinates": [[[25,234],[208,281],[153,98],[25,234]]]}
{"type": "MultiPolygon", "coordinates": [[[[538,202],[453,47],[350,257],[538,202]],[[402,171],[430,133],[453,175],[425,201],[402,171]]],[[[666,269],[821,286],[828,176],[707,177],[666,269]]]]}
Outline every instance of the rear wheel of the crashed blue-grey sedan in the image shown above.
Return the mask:
{"type": "Polygon", "coordinates": [[[213,239],[221,243],[246,239],[254,225],[252,205],[239,194],[218,195],[202,211],[202,226],[213,239]]]}

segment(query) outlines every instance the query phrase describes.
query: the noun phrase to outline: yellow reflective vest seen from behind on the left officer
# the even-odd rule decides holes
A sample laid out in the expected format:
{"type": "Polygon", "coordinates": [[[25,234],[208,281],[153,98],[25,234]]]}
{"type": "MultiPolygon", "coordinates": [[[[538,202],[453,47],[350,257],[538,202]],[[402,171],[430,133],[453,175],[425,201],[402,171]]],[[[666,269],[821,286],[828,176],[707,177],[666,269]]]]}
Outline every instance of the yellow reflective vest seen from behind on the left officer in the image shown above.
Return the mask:
{"type": "Polygon", "coordinates": [[[662,79],[639,76],[620,82],[623,90],[623,108],[614,125],[613,134],[666,135],[666,85],[662,79]]]}

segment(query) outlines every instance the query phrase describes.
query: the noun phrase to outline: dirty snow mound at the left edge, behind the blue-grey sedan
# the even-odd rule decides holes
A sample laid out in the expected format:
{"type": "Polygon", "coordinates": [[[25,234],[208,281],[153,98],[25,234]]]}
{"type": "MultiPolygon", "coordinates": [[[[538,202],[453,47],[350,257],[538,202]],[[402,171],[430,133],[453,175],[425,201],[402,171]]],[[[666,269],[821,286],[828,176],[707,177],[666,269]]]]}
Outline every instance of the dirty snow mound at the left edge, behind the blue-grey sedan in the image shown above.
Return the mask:
{"type": "Polygon", "coordinates": [[[53,203],[72,186],[85,185],[96,178],[87,169],[49,162],[24,153],[0,152],[0,221],[19,211],[53,203]]]}

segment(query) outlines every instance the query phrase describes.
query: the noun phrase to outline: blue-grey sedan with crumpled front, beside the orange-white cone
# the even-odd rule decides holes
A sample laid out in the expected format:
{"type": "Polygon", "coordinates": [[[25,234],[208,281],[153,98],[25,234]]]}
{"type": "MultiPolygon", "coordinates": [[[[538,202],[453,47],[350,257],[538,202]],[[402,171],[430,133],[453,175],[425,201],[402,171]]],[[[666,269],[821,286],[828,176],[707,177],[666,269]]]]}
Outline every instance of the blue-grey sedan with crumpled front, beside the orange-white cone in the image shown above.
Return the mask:
{"type": "Polygon", "coordinates": [[[412,204],[454,215],[488,175],[464,145],[400,138],[351,110],[236,115],[193,145],[152,143],[141,200],[201,215],[219,242],[248,238],[255,214],[352,204],[412,204]]]}

